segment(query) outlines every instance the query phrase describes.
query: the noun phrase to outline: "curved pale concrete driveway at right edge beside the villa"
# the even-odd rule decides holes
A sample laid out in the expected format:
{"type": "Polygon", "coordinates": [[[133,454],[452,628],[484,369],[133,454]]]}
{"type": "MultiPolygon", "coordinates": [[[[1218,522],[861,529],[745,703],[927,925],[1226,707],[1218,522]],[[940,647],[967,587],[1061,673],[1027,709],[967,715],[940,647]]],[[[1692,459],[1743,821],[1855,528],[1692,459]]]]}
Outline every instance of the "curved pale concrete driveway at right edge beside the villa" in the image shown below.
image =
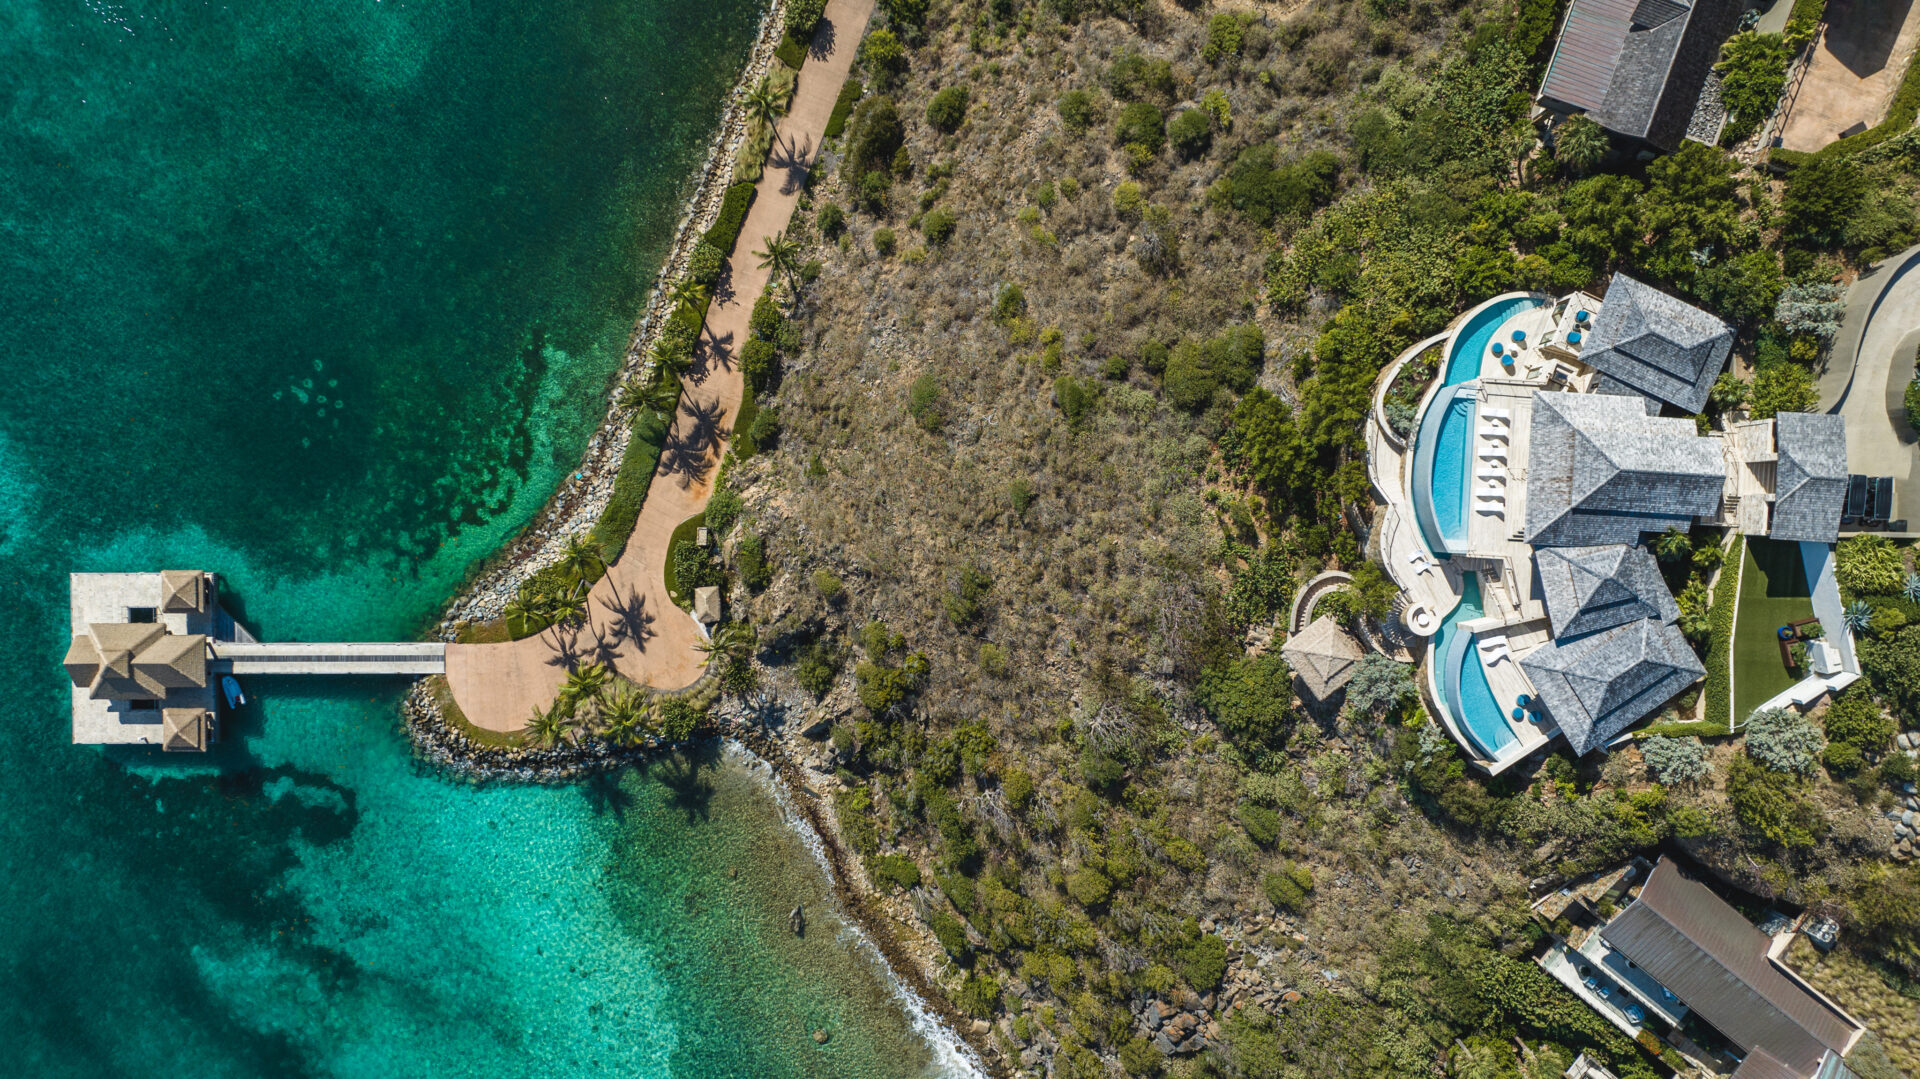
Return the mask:
{"type": "Polygon", "coordinates": [[[1847,470],[1893,476],[1893,520],[1920,528],[1914,430],[1903,394],[1920,348],[1920,246],[1860,275],[1820,376],[1820,403],[1847,420],[1847,470]]]}

